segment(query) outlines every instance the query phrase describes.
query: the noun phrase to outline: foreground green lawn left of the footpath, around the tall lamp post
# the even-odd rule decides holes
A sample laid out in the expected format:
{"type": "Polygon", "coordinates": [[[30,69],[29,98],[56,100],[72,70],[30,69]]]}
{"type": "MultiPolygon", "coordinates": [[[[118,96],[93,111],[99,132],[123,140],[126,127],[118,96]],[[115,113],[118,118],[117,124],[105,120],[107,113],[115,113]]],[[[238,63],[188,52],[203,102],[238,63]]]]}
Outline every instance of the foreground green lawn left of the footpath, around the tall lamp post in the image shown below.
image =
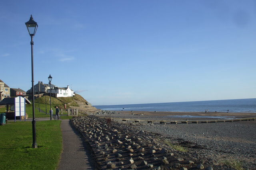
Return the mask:
{"type": "Polygon", "coordinates": [[[37,121],[38,148],[32,148],[31,122],[0,126],[0,169],[55,170],[62,151],[61,121],[37,121]]]}

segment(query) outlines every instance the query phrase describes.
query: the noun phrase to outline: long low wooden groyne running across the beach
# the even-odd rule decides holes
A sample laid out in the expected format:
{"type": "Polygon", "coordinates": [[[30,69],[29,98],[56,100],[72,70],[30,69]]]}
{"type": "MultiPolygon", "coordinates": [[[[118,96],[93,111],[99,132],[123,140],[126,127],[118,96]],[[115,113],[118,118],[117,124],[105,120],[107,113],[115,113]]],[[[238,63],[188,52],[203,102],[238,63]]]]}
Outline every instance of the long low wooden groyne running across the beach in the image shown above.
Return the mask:
{"type": "MultiPolygon", "coordinates": [[[[106,117],[105,117],[106,118],[106,117]]],[[[110,118],[110,117],[109,117],[110,118]]],[[[178,123],[217,123],[217,122],[233,122],[233,121],[256,121],[256,117],[237,118],[237,119],[217,119],[217,120],[145,120],[145,119],[123,119],[111,117],[111,120],[133,121],[135,123],[160,123],[160,124],[178,124],[178,123]]]]}

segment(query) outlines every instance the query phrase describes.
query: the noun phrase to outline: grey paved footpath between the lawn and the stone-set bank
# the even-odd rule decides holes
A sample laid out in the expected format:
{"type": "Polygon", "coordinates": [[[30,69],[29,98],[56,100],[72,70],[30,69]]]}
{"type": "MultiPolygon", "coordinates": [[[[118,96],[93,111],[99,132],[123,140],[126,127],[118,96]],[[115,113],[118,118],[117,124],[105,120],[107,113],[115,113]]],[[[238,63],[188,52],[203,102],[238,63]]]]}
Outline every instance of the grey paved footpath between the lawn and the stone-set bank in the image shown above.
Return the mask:
{"type": "Polygon", "coordinates": [[[94,164],[90,151],[80,133],[70,126],[69,119],[62,119],[61,131],[63,150],[60,158],[59,170],[93,170],[94,164]]]}

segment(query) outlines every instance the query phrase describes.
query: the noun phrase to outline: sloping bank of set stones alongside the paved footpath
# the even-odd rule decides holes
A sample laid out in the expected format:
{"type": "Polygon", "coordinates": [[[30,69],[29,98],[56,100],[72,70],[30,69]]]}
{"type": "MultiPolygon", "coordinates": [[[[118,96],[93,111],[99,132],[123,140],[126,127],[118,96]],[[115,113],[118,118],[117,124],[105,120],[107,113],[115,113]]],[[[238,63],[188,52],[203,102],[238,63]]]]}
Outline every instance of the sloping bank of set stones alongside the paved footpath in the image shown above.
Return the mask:
{"type": "Polygon", "coordinates": [[[140,131],[128,123],[97,116],[75,117],[72,124],[91,147],[101,169],[194,169],[200,164],[213,169],[220,165],[205,163],[189,152],[172,149],[157,133],[140,131]]]}

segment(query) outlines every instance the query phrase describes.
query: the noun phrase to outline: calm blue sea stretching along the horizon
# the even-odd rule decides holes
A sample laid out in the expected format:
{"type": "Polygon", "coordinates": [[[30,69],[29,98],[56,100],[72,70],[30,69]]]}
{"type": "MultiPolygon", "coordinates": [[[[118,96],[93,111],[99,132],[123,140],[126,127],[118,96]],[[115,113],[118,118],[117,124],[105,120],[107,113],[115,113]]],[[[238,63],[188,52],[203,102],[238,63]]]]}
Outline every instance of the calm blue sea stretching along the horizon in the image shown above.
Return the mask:
{"type": "Polygon", "coordinates": [[[256,112],[256,98],[235,100],[211,100],[199,102],[174,102],[153,104],[126,104],[94,106],[102,110],[134,110],[134,111],[209,111],[218,112],[256,112]],[[124,108],[124,109],[123,109],[124,108]]]}

